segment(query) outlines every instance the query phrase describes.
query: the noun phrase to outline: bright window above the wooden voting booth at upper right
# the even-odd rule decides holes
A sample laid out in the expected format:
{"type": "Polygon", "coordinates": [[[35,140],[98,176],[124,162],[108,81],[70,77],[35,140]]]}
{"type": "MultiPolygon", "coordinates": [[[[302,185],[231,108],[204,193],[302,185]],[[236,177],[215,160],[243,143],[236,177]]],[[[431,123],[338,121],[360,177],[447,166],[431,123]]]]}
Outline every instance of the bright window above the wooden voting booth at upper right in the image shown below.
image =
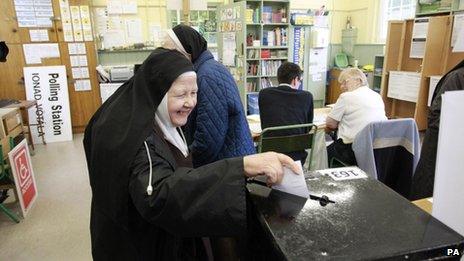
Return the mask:
{"type": "Polygon", "coordinates": [[[387,38],[388,21],[414,18],[417,0],[381,0],[379,16],[379,42],[387,38]]]}

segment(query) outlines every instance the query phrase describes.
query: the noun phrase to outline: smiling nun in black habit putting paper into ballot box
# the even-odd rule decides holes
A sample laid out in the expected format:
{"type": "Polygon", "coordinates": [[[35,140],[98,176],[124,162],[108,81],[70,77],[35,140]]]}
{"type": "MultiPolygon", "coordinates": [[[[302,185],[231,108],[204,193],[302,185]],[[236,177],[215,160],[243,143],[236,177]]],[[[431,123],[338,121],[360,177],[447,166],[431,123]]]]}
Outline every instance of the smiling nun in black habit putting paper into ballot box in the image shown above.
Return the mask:
{"type": "Polygon", "coordinates": [[[94,114],[84,136],[95,260],[211,260],[209,237],[246,231],[245,178],[282,179],[263,153],[192,169],[180,126],[196,103],[193,66],[158,48],[94,114]]]}

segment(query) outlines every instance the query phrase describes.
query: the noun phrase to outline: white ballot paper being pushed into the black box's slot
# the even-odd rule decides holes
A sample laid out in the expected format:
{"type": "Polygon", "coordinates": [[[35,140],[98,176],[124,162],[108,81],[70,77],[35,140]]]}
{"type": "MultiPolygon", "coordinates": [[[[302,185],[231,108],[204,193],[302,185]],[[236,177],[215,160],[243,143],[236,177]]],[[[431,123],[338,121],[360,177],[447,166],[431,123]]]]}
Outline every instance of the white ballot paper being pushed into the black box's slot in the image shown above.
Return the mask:
{"type": "Polygon", "coordinates": [[[272,188],[303,198],[308,198],[309,190],[304,179],[303,167],[301,166],[301,162],[299,160],[295,161],[295,163],[301,170],[301,174],[295,174],[289,168],[284,167],[284,177],[282,182],[278,185],[272,186],[272,188]]]}

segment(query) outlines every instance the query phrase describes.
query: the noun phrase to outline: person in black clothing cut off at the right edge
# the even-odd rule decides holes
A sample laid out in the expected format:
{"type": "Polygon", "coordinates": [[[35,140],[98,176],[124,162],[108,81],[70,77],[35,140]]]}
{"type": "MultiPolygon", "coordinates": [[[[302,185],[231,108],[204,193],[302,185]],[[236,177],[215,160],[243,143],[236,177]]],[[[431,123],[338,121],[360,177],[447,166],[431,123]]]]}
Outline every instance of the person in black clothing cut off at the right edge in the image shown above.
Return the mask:
{"type": "Polygon", "coordinates": [[[441,95],[447,91],[464,90],[464,60],[446,73],[438,82],[427,117],[427,130],[422,142],[421,156],[413,176],[411,200],[431,197],[435,182],[438,133],[441,115],[441,95]]]}

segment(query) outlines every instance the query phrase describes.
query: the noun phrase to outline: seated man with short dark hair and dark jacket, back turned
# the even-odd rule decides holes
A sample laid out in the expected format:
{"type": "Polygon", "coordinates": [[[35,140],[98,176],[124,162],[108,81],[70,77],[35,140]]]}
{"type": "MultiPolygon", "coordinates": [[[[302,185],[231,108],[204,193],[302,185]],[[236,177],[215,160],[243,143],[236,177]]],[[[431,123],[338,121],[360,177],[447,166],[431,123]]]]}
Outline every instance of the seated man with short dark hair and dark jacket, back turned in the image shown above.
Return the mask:
{"type": "MultiPolygon", "coordinates": [[[[297,64],[284,62],[277,70],[278,87],[262,89],[258,103],[261,128],[304,124],[313,122],[313,95],[308,91],[300,91],[301,69],[297,64]]],[[[303,134],[305,129],[274,131],[269,136],[286,136],[303,134]]],[[[287,154],[293,160],[301,160],[304,164],[306,151],[287,154]]]]}

